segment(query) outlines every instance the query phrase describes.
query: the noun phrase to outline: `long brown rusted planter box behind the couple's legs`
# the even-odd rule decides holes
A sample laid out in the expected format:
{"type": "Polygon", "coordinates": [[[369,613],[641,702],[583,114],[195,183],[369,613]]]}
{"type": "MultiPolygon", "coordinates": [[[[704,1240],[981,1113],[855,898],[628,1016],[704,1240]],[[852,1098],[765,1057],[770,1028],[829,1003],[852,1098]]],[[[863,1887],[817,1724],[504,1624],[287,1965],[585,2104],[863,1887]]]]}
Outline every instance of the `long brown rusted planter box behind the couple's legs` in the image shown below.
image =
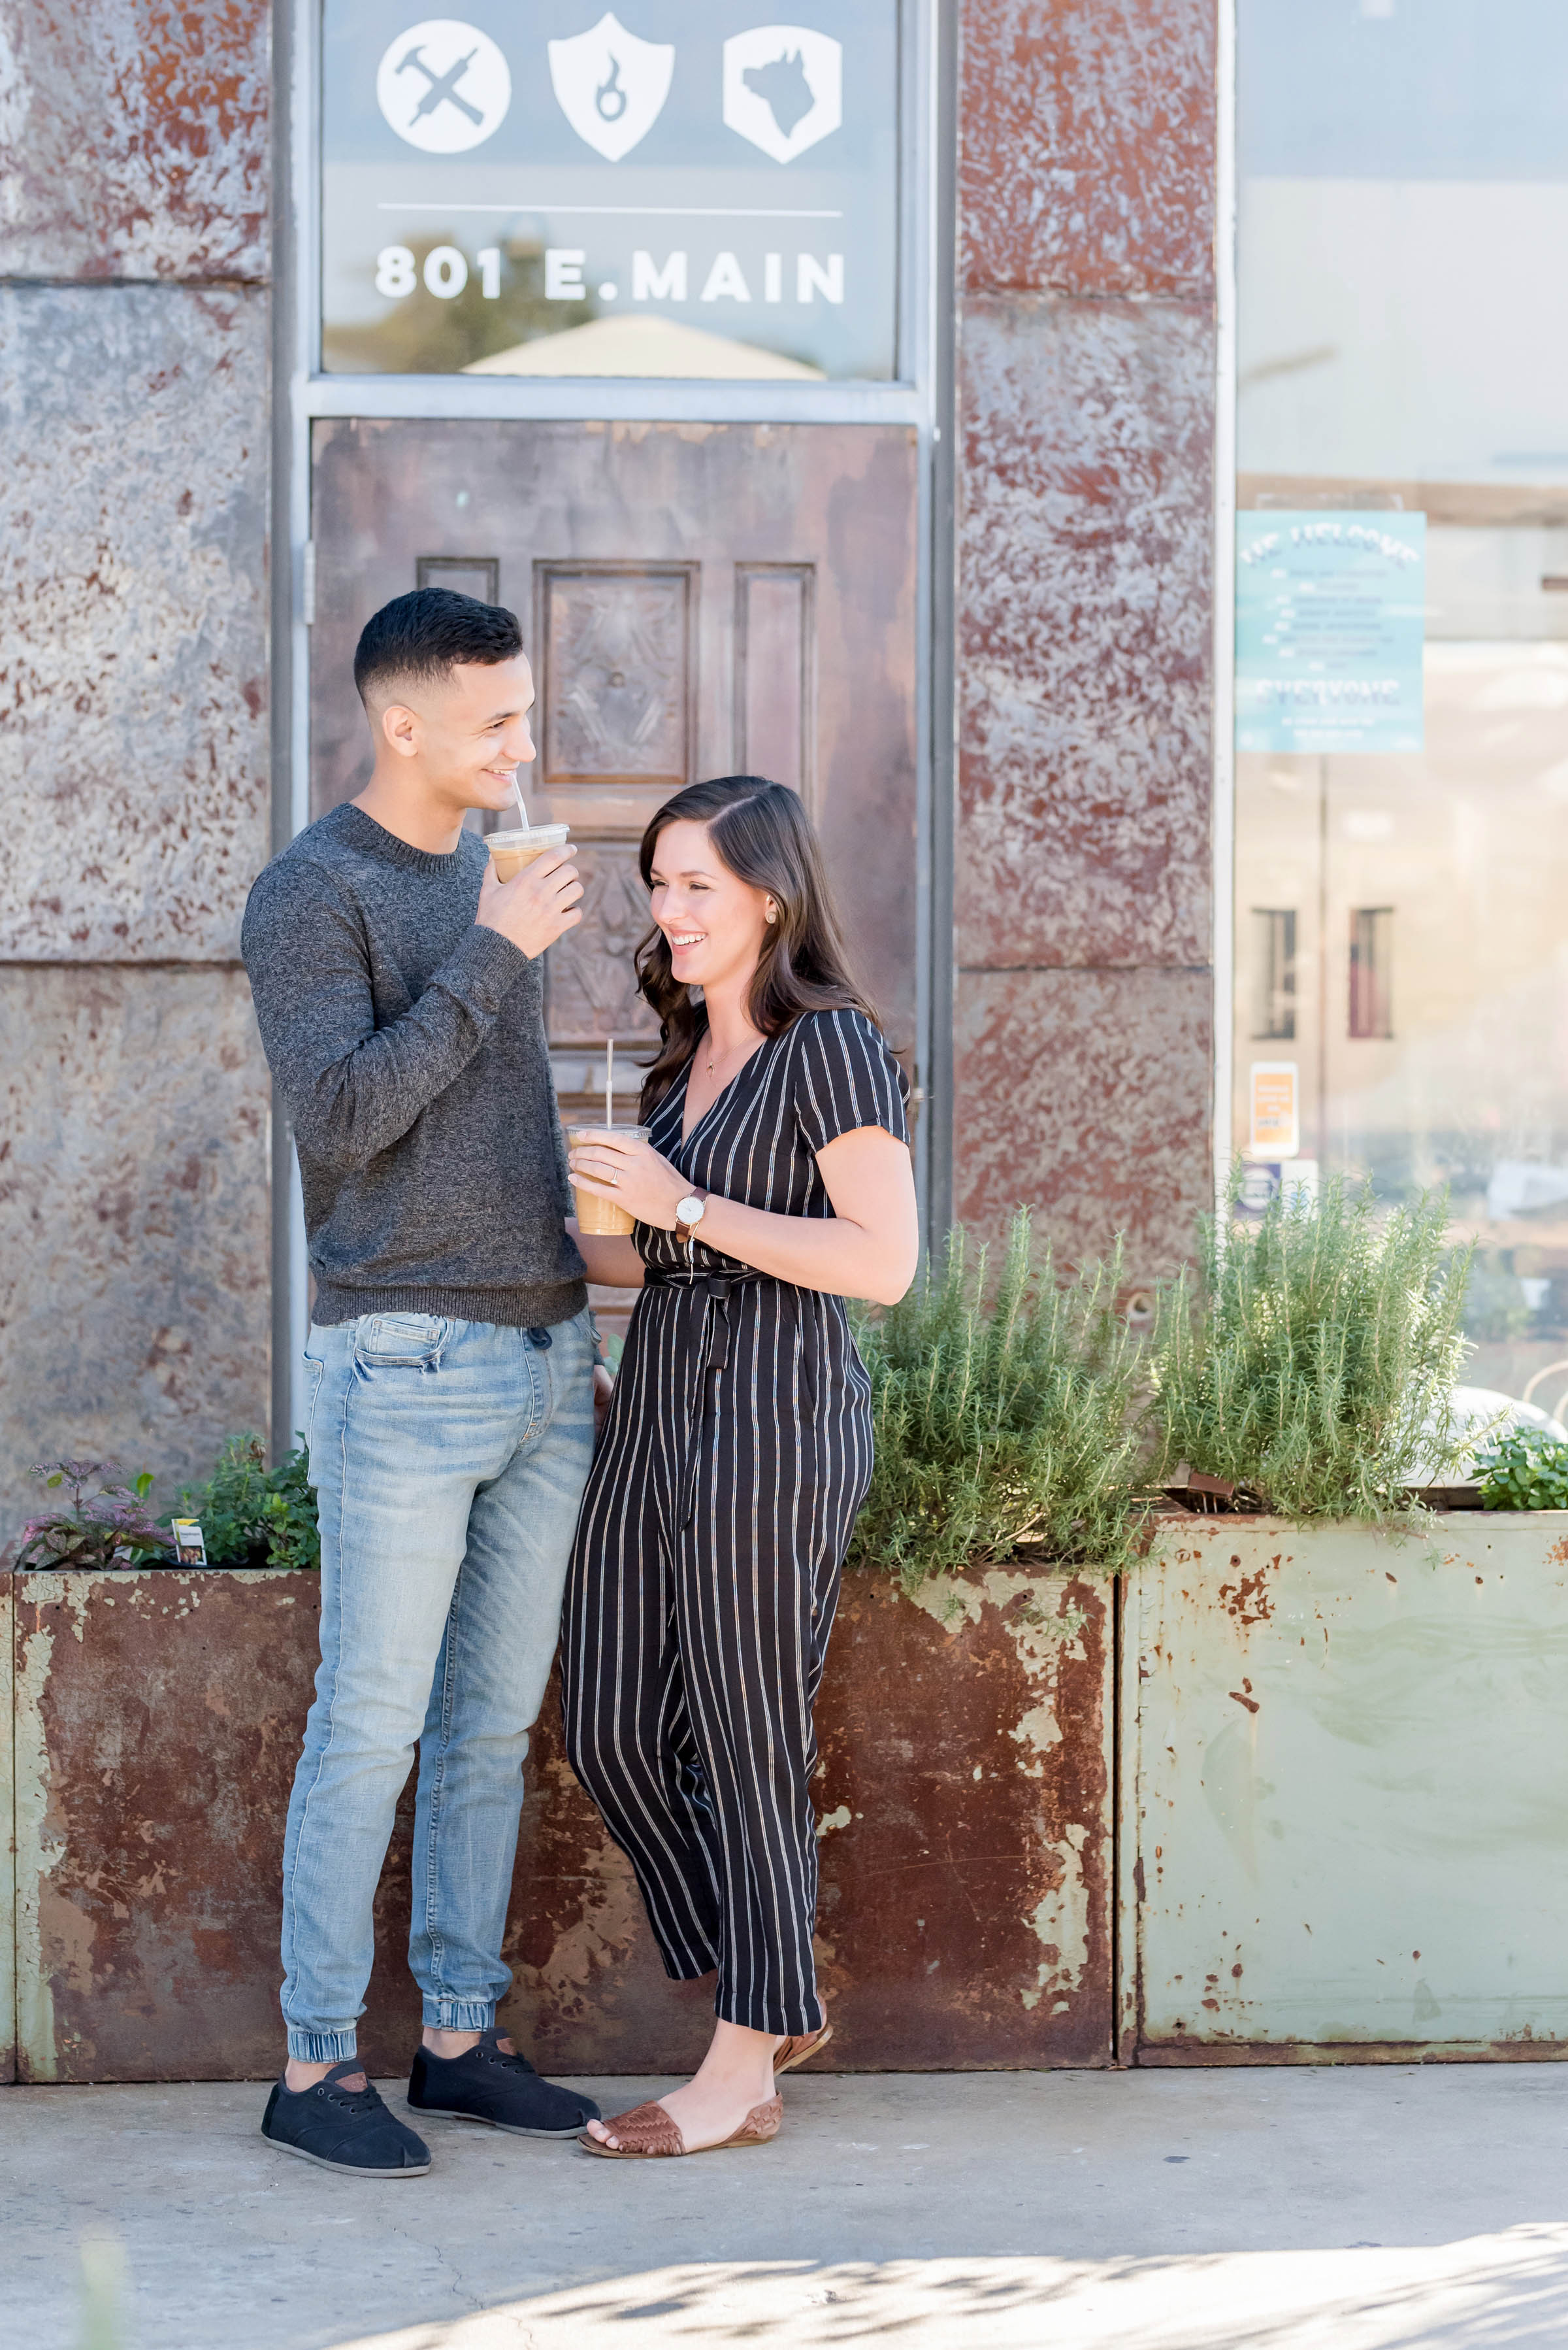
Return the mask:
{"type": "MultiPolygon", "coordinates": [[[[270,2075],[317,1579],[0,1584],[16,1668],[16,2075],[270,2075]]],[[[991,1570],[908,1600],[852,1574],[819,1734],[833,2061],[1110,2063],[1110,1591],[991,1570]]],[[[361,2042],[378,2073],[406,2066],[418,2030],[408,1838],[411,1793],[378,1896],[361,2042]]],[[[674,2070],[707,2040],[711,1986],[664,1981],[631,1873],[566,1767],[554,1692],[528,1762],[507,1960],[507,2021],[542,2066],[674,2070]]]]}

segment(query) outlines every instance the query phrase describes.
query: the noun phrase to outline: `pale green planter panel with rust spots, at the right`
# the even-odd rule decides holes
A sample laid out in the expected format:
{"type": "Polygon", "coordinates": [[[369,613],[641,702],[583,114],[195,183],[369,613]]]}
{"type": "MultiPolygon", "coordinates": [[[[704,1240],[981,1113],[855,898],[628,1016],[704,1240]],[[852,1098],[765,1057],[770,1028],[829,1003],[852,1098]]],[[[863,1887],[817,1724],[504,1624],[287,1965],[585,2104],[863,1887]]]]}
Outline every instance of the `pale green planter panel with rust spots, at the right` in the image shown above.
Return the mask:
{"type": "Polygon", "coordinates": [[[1141,2063],[1568,2052],[1568,1513],[1167,1520],[1122,1654],[1141,2063]]]}

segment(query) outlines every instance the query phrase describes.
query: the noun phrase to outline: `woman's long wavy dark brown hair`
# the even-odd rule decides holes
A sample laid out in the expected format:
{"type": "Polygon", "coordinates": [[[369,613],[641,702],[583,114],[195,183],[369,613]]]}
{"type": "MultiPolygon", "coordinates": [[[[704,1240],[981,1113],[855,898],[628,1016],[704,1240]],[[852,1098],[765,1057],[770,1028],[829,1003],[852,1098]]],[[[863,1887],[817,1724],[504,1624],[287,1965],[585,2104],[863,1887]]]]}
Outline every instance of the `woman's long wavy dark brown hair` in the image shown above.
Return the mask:
{"type": "MultiPolygon", "coordinates": [[[[667,799],[643,832],[638,865],[653,888],[653,860],[667,825],[688,818],[709,827],[718,860],[751,888],[765,888],[779,909],[768,926],[751,973],[746,1018],[763,1036],[777,1036],[800,1013],[876,1010],[850,973],[850,956],[833,912],[833,893],[822,870],[822,848],[796,792],[763,776],[716,776],[688,783],[667,799]]],[[[636,982],[660,1015],[660,1050],[643,1079],[641,1116],[664,1100],[707,1029],[707,1010],[692,1003],[669,964],[669,940],[655,926],[636,949],[636,982]]],[[[880,1025],[880,1022],[878,1022],[880,1025]]]]}

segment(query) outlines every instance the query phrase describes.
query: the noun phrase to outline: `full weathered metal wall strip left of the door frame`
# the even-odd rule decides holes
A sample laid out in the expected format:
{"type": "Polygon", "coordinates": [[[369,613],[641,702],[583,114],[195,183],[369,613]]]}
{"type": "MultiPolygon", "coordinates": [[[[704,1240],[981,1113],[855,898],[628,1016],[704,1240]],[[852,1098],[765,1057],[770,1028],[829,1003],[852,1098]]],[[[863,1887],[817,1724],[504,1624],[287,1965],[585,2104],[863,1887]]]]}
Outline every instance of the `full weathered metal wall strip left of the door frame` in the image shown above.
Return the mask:
{"type": "Polygon", "coordinates": [[[0,1556],[268,1419],[268,75],[258,0],[0,28],[0,1556]]]}

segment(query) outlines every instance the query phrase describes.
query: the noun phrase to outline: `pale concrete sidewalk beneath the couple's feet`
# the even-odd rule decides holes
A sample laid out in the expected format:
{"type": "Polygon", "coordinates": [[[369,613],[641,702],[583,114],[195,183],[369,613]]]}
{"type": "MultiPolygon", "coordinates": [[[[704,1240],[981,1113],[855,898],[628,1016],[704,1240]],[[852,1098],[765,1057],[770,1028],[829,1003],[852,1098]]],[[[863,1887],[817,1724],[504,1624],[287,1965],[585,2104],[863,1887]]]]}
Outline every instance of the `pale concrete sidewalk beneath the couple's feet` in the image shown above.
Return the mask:
{"type": "Polygon", "coordinates": [[[80,2244],[110,2235],[124,2350],[1568,2341],[1556,2066],[793,2075],[768,2150],[434,2124],[404,2186],[275,2155],[261,2103],[0,2089],[0,2338],[77,2350],[80,2244]]]}

